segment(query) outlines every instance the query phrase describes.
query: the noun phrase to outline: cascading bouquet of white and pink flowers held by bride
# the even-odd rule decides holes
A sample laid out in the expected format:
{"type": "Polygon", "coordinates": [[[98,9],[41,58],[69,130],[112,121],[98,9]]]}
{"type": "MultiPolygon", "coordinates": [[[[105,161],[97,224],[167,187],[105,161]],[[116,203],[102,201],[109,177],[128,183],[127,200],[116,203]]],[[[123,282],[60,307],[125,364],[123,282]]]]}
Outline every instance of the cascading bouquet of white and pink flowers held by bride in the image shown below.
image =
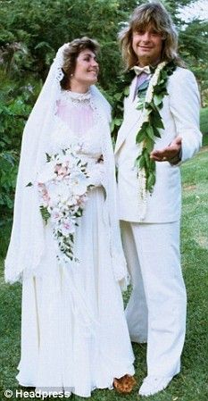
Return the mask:
{"type": "Polygon", "coordinates": [[[87,202],[89,185],[87,163],[78,153],[81,145],[61,149],[58,154],[46,154],[46,166],[37,176],[40,212],[47,222],[50,219],[58,245],[58,260],[79,262],[73,255],[74,233],[78,218],[87,202]]]}

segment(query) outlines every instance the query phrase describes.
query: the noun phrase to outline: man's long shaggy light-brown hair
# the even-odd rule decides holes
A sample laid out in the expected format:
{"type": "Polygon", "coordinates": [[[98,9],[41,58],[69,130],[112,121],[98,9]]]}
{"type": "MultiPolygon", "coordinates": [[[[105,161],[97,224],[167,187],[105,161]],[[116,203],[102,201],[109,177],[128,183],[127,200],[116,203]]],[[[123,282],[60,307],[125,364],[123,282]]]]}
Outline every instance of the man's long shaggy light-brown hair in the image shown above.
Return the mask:
{"type": "Polygon", "coordinates": [[[185,64],[178,55],[178,33],[171,16],[161,3],[152,2],[139,5],[131,15],[129,25],[119,34],[121,54],[126,68],[130,69],[137,64],[137,55],[132,48],[133,32],[146,29],[148,26],[154,27],[163,37],[161,61],[174,60],[184,67],[185,64]]]}

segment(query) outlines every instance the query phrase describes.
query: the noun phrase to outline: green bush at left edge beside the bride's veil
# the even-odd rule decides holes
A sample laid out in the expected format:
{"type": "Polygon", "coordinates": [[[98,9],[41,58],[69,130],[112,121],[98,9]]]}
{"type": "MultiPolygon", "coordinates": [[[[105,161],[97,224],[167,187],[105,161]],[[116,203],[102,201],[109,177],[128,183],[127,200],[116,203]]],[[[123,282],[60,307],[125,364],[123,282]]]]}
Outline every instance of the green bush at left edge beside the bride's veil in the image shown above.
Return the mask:
{"type": "Polygon", "coordinates": [[[4,257],[12,227],[12,209],[21,136],[39,84],[12,80],[0,70],[0,255],[4,257]]]}

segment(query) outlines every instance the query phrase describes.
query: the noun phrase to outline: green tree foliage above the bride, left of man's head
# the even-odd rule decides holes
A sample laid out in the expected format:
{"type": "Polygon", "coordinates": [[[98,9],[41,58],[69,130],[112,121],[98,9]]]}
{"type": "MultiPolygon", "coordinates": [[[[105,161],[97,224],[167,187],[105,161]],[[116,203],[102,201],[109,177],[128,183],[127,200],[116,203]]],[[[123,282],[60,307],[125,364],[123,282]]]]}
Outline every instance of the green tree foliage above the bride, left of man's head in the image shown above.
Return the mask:
{"type": "Polygon", "coordinates": [[[20,74],[28,71],[45,79],[57,48],[73,38],[87,35],[101,44],[101,85],[110,87],[120,63],[116,40],[118,26],[125,17],[119,1],[34,0],[30,3],[29,0],[12,0],[1,4],[0,20],[4,21],[4,27],[0,45],[17,43],[24,49],[23,56],[16,46],[16,54],[21,54],[20,74]]]}

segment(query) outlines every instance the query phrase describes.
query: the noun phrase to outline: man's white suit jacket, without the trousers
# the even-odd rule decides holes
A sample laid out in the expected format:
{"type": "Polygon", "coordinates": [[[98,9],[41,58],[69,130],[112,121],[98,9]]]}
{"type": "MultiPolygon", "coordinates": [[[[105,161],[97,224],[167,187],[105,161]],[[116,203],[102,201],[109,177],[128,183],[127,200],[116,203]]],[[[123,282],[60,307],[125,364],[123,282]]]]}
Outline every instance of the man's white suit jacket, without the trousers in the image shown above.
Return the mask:
{"type": "MultiPolygon", "coordinates": [[[[124,120],[115,145],[118,166],[119,217],[124,221],[141,221],[137,194],[139,182],[134,167],[137,158],[136,135],[141,111],[136,109],[134,93],[137,79],[130,85],[129,97],[124,102],[124,120]]],[[[199,130],[200,101],[196,79],[191,71],[177,67],[168,81],[168,96],[163,98],[161,110],[164,129],[157,138],[154,149],[170,145],[182,138],[182,162],[195,155],[201,146],[199,130]]],[[[180,164],[180,163],[179,163],[180,164]]],[[[181,209],[180,171],[178,165],[169,162],[156,163],[154,192],[147,197],[147,212],[143,222],[178,221],[181,209]]]]}

